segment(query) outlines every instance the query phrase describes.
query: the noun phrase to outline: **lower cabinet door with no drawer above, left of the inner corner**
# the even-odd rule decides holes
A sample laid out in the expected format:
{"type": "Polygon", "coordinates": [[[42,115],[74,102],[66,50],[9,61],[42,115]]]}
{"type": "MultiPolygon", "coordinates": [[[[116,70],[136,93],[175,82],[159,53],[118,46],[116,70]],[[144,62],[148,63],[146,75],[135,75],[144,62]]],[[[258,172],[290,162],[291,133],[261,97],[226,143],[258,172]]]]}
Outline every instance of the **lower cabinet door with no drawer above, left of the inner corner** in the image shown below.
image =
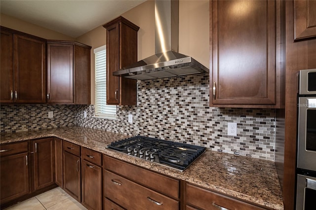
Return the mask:
{"type": "Polygon", "coordinates": [[[54,138],[34,140],[34,189],[55,183],[54,138]]]}

